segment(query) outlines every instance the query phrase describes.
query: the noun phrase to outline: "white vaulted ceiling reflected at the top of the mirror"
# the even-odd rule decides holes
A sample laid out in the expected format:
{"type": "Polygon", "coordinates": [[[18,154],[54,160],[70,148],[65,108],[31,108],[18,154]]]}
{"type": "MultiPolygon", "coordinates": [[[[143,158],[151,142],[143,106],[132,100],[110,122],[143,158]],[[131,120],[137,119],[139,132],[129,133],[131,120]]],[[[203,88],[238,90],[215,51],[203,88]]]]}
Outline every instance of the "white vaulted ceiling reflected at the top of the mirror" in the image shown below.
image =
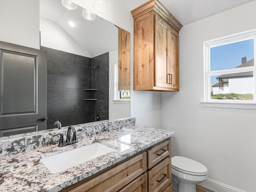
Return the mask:
{"type": "Polygon", "coordinates": [[[93,21],[84,19],[80,6],[68,10],[61,0],[40,0],[40,17],[58,25],[90,58],[118,49],[118,28],[98,16],[93,21]],[[74,23],[74,28],[69,21],[74,23]]]}

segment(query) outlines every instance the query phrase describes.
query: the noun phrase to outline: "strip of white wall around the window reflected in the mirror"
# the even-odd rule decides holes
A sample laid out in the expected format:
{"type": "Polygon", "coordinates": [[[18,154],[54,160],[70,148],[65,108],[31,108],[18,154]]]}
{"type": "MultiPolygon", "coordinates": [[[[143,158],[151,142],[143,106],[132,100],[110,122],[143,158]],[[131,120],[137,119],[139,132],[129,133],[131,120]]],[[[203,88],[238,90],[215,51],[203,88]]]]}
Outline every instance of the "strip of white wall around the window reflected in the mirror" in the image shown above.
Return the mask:
{"type": "Polygon", "coordinates": [[[118,63],[118,50],[109,52],[109,120],[130,117],[130,102],[114,102],[114,66],[118,63]]]}

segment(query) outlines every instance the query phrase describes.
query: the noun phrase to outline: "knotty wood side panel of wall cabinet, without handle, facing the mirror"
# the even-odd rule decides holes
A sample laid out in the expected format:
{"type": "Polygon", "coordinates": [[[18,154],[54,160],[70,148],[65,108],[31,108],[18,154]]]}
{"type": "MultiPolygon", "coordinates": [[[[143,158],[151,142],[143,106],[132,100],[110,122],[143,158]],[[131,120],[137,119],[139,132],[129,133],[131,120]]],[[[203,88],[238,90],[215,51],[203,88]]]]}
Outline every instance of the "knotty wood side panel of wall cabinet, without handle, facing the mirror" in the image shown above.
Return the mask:
{"type": "Polygon", "coordinates": [[[153,89],[154,11],[134,19],[134,90],[153,89]]]}

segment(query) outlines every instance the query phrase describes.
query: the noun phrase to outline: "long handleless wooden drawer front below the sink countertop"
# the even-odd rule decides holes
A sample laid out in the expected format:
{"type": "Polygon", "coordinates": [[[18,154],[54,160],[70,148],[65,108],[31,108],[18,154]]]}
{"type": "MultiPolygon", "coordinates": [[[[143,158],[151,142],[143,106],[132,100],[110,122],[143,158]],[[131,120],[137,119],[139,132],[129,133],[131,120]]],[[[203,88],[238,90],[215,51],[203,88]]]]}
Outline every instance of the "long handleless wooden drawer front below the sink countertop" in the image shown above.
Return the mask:
{"type": "Polygon", "coordinates": [[[146,171],[146,152],[70,190],[71,192],[116,192],[146,171]]]}

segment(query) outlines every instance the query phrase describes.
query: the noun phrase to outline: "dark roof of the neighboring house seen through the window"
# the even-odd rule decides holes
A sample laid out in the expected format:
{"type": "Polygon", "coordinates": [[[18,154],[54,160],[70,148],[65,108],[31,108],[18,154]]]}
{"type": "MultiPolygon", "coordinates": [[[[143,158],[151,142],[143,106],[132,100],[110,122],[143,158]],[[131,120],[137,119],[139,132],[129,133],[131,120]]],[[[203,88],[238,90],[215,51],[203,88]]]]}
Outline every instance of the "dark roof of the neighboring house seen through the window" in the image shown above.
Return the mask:
{"type": "MultiPolygon", "coordinates": [[[[254,66],[254,58],[251,59],[248,62],[244,62],[242,65],[239,65],[236,68],[250,67],[250,66],[254,66]]],[[[220,75],[220,76],[216,77],[216,79],[217,80],[222,79],[223,82],[228,82],[228,78],[239,78],[239,77],[250,77],[250,76],[253,76],[253,72],[252,71],[224,74],[224,75],[220,75]]]]}

